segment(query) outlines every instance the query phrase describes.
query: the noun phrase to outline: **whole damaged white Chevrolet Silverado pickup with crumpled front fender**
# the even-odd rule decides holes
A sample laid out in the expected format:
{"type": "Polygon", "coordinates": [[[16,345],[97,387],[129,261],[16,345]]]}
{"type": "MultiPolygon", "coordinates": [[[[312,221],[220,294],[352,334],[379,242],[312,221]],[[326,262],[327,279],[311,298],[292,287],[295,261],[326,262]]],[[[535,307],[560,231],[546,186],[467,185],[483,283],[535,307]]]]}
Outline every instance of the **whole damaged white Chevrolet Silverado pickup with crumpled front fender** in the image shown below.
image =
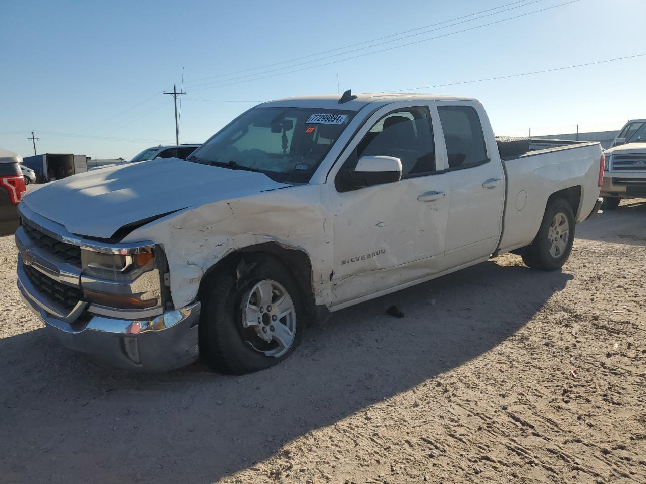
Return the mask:
{"type": "Polygon", "coordinates": [[[25,197],[18,287],[67,347],[161,371],[269,367],[306,325],[516,251],[567,260],[596,214],[598,143],[501,159],[475,99],[313,96],[245,112],[187,161],[25,197]]]}

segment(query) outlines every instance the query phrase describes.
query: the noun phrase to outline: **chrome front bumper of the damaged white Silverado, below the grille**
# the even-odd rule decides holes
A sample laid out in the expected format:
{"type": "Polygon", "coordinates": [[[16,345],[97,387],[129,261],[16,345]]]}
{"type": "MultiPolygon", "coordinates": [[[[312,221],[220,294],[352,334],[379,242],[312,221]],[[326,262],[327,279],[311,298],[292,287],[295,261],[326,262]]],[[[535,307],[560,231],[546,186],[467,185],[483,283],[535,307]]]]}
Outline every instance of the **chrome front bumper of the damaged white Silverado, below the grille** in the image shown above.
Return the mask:
{"type": "MultiPolygon", "coordinates": [[[[164,372],[196,361],[201,303],[145,319],[116,319],[87,312],[74,321],[48,307],[18,261],[17,284],[26,305],[67,348],[112,367],[164,372]],[[67,319],[64,321],[63,319],[67,319]]],[[[85,307],[79,308],[83,311],[85,307]]]]}

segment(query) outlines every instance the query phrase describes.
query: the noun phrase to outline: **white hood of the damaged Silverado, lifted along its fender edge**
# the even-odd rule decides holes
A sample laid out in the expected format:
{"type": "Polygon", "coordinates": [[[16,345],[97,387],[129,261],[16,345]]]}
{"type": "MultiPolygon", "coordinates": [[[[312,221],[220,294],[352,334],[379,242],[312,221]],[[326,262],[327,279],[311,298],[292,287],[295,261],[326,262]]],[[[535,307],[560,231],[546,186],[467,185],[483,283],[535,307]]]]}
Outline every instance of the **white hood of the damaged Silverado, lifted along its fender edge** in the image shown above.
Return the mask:
{"type": "Polygon", "coordinates": [[[282,187],[262,173],[166,158],[53,181],[22,203],[72,234],[108,239],[124,225],[282,187]]]}

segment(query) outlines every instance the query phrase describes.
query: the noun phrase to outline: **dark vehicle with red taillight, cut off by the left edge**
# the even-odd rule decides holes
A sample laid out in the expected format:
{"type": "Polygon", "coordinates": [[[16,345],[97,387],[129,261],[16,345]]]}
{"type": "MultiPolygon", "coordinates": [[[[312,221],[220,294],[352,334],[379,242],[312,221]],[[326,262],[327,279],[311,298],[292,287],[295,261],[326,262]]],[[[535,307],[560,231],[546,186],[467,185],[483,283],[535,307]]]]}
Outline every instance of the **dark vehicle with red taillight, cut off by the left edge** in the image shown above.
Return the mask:
{"type": "Polygon", "coordinates": [[[27,191],[22,162],[16,153],[0,149],[0,236],[13,234],[20,225],[17,207],[27,191]]]}

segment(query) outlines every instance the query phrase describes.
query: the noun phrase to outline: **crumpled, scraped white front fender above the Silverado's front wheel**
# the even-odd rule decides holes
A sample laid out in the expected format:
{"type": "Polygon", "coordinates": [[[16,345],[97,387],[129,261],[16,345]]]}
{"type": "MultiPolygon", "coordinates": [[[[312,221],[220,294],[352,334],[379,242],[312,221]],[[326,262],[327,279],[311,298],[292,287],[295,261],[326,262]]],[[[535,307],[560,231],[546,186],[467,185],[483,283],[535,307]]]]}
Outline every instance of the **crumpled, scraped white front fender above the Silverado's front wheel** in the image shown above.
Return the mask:
{"type": "Polygon", "coordinates": [[[124,241],[149,239],[163,247],[174,307],[194,301],[204,274],[227,254],[267,242],[307,254],[315,303],[329,307],[333,237],[325,188],[299,185],[189,207],[124,241]]]}

